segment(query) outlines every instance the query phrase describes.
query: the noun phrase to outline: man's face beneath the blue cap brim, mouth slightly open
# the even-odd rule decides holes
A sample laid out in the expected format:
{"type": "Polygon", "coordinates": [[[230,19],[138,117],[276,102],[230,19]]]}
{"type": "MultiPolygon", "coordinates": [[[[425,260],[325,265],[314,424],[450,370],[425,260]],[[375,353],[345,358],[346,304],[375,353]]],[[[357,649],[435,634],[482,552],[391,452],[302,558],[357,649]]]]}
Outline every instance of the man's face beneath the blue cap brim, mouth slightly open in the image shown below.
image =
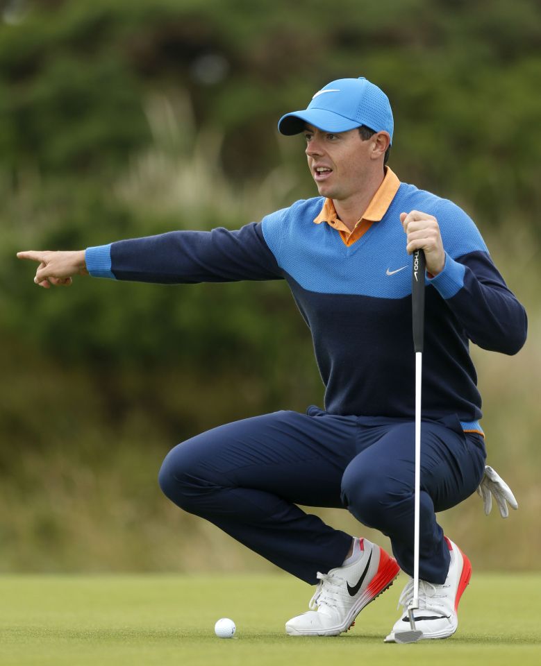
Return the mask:
{"type": "Polygon", "coordinates": [[[374,142],[363,141],[358,129],[332,134],[306,125],[308,167],[321,196],[347,200],[366,182],[374,142]]]}

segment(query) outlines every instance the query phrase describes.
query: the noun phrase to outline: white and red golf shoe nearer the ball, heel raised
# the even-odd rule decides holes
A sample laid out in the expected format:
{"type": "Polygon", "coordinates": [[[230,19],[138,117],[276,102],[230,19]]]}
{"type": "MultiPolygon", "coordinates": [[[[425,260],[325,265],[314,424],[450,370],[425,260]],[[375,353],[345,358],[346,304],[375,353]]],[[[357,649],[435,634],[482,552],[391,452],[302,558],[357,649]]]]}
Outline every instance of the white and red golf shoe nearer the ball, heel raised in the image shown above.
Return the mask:
{"type": "Polygon", "coordinates": [[[347,631],[370,601],[392,585],[400,568],[378,545],[360,539],[362,555],[353,564],[318,572],[317,588],[306,613],[285,624],[290,636],[337,636],[347,631]]]}

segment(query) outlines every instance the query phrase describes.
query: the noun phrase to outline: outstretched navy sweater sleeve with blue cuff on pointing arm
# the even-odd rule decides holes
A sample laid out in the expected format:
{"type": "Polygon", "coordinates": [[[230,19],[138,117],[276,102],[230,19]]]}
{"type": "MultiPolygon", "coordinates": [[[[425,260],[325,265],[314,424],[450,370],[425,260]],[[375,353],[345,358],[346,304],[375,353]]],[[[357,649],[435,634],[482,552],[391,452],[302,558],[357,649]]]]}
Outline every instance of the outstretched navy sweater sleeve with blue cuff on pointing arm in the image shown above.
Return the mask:
{"type": "Polygon", "coordinates": [[[261,223],[240,230],[174,231],[87,248],[90,275],[114,280],[186,284],[278,280],[281,268],[261,223]]]}

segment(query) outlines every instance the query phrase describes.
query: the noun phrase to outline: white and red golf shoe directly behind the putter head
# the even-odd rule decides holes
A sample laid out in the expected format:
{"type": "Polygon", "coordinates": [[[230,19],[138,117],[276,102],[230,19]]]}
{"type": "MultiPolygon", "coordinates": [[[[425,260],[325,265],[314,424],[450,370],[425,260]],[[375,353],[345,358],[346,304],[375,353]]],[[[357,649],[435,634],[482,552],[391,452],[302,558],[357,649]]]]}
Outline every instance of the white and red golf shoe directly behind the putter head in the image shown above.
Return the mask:
{"type": "MultiPolygon", "coordinates": [[[[472,576],[472,565],[460,548],[445,537],[451,554],[449,573],[443,585],[419,581],[419,610],[413,611],[415,629],[422,631],[421,639],[448,638],[458,627],[458,601],[472,576]]],[[[395,631],[410,629],[408,606],[413,599],[413,579],[403,589],[399,607],[403,606],[403,615],[394,623],[391,633],[385,638],[386,643],[397,642],[395,631]]]]}

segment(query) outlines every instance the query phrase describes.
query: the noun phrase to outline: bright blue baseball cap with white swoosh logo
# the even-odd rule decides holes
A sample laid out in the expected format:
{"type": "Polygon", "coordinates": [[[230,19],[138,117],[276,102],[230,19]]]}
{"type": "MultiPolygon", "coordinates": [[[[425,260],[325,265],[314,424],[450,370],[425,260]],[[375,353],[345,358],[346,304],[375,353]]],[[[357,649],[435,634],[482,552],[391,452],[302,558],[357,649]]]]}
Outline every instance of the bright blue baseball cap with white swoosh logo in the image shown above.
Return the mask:
{"type": "Polygon", "coordinates": [[[306,110],[282,116],[278,131],[288,136],[299,134],[304,123],[336,133],[364,125],[374,132],[388,132],[391,142],[394,128],[388,96],[364,76],[331,81],[313,96],[306,110]]]}

